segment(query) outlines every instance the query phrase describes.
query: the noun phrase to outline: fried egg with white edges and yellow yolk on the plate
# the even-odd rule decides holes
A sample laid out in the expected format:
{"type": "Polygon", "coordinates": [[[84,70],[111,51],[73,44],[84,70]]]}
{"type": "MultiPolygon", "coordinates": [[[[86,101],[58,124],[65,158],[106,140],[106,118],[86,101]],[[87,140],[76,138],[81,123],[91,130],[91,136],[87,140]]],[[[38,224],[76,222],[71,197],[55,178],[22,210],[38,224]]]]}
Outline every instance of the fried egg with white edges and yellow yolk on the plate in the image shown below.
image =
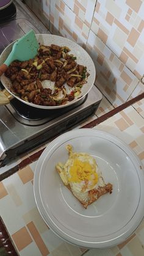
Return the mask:
{"type": "Polygon", "coordinates": [[[95,158],[87,153],[73,152],[71,145],[66,148],[69,154],[67,162],[56,166],[65,186],[70,185],[76,192],[88,192],[105,185],[95,158]]]}

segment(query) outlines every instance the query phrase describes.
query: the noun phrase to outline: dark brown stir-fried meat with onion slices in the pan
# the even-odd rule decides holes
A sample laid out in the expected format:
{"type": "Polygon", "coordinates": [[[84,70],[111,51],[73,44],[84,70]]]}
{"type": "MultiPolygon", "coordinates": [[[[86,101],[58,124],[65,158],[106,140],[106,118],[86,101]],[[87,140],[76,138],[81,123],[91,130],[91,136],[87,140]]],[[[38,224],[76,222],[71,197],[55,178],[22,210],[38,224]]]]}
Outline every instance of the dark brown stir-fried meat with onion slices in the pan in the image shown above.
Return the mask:
{"type": "Polygon", "coordinates": [[[80,95],[87,82],[87,67],[76,62],[67,46],[40,45],[34,59],[13,61],[5,72],[12,82],[12,92],[21,99],[43,106],[66,104],[80,95]],[[52,89],[43,81],[52,81],[52,89]],[[66,86],[70,87],[69,93],[66,86]]]}

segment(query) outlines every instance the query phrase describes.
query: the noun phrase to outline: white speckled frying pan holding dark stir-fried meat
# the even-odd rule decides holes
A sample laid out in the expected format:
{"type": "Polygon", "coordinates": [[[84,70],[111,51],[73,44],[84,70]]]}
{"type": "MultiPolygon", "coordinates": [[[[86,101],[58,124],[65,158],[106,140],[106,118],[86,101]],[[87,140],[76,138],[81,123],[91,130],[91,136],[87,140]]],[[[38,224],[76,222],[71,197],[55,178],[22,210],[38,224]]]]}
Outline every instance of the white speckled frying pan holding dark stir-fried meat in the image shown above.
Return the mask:
{"type": "MultiPolygon", "coordinates": [[[[12,87],[12,82],[9,78],[7,78],[4,74],[1,76],[1,82],[2,85],[5,87],[8,94],[10,95],[10,99],[15,97],[18,100],[22,101],[24,104],[28,104],[29,106],[32,106],[34,108],[40,108],[40,109],[60,109],[65,108],[67,106],[70,106],[71,104],[76,103],[77,101],[81,100],[89,90],[92,88],[93,83],[95,81],[95,65],[93,64],[92,58],[89,56],[87,51],[85,51],[81,46],[77,45],[77,43],[74,43],[73,41],[60,37],[58,35],[48,35],[48,34],[37,34],[36,35],[37,40],[42,45],[59,45],[59,46],[68,46],[68,48],[71,49],[70,54],[73,54],[76,56],[76,62],[77,64],[84,65],[87,67],[88,73],[90,75],[87,78],[87,84],[84,84],[81,89],[81,94],[79,94],[77,97],[74,98],[72,101],[68,101],[66,104],[59,105],[59,106],[41,106],[34,103],[29,103],[27,101],[22,100],[20,97],[16,96],[13,92],[11,92],[10,87],[12,87]]],[[[14,43],[14,42],[13,42],[14,43]]],[[[13,43],[10,43],[4,51],[2,52],[0,56],[0,65],[4,63],[5,59],[7,59],[7,56],[10,54],[10,51],[12,50],[13,43]]],[[[54,82],[51,81],[44,81],[43,86],[46,88],[54,88],[54,82]]],[[[71,88],[65,84],[65,89],[67,90],[67,93],[71,92],[71,88]]],[[[7,104],[7,103],[6,103],[7,104]]]]}

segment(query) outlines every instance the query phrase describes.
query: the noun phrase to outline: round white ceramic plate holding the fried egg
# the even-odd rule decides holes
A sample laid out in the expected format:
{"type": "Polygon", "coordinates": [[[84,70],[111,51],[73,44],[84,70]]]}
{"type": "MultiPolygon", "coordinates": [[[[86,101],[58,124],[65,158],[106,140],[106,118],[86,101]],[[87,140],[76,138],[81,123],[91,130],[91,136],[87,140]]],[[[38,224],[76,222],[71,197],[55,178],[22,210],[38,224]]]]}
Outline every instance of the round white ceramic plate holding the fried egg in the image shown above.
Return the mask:
{"type": "Polygon", "coordinates": [[[117,137],[94,129],[69,131],[46,147],[34,175],[34,195],[46,224],[61,238],[77,246],[103,248],[122,243],[144,216],[144,175],[135,153],[117,137]],[[55,166],[65,163],[67,144],[74,152],[92,155],[112,194],[87,210],[63,185],[55,166]]]}

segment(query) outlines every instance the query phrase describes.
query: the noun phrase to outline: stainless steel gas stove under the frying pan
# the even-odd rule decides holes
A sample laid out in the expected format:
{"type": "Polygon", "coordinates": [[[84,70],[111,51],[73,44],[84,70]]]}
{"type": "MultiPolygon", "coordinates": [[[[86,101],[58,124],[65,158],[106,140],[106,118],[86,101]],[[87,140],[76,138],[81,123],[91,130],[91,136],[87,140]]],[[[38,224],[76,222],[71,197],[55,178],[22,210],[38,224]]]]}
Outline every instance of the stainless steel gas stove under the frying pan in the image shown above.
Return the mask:
{"type": "MultiPolygon", "coordinates": [[[[13,3],[16,7],[16,15],[13,19],[0,23],[0,54],[9,43],[20,38],[30,29],[34,29],[36,34],[50,34],[21,1],[13,1],[13,3]]],[[[3,89],[1,83],[0,89],[3,89]]],[[[101,92],[93,85],[88,95],[76,104],[62,109],[32,108],[16,98],[10,101],[10,104],[1,106],[0,167],[95,114],[101,99],[101,92]]]]}

